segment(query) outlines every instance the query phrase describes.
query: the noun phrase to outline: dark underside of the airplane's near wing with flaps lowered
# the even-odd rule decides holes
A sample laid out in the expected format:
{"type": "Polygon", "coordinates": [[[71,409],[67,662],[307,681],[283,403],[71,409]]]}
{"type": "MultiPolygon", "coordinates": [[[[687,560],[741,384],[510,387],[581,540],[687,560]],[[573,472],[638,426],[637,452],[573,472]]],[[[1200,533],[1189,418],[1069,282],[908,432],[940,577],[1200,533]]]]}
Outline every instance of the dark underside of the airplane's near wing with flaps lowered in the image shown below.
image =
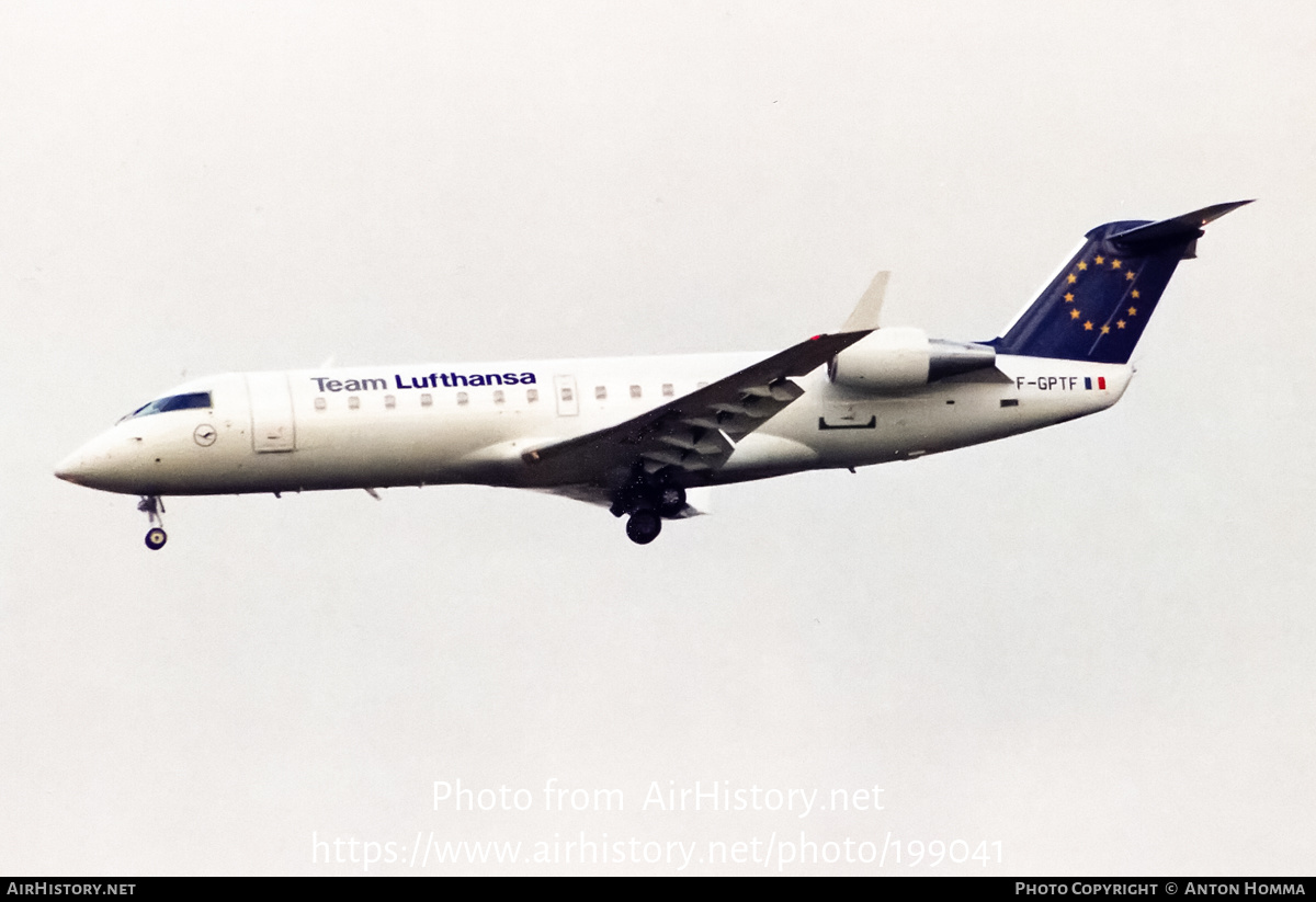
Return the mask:
{"type": "Polygon", "coordinates": [[[717,469],[736,442],[804,394],[791,376],[812,372],[869,331],[815,335],[616,426],[526,451],[522,460],[594,484],[607,481],[611,471],[629,471],[637,460],[649,472],[717,469]]]}

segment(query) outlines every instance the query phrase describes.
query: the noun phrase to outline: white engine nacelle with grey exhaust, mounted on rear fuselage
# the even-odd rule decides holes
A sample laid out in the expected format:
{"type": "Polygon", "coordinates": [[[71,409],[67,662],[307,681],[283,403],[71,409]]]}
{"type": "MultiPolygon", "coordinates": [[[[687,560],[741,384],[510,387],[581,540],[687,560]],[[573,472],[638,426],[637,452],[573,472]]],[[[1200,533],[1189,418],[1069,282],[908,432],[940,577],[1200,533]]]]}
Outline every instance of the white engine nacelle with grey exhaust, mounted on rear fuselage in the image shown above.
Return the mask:
{"type": "Polygon", "coordinates": [[[878,329],[845,348],[826,367],[837,385],[863,392],[898,393],[946,376],[996,366],[996,348],[928,338],[921,329],[878,329]]]}

